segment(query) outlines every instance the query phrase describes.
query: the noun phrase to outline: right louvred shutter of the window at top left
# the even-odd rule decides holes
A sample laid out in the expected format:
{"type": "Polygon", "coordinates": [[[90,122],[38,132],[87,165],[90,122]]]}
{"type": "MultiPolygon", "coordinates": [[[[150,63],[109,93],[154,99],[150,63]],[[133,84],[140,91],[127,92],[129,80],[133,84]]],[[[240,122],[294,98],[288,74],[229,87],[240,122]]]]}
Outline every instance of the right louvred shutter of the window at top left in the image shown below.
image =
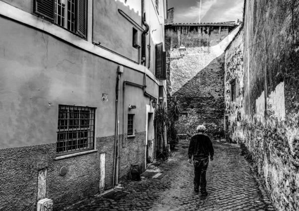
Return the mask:
{"type": "Polygon", "coordinates": [[[77,3],[77,33],[86,38],[86,0],[77,3]]]}

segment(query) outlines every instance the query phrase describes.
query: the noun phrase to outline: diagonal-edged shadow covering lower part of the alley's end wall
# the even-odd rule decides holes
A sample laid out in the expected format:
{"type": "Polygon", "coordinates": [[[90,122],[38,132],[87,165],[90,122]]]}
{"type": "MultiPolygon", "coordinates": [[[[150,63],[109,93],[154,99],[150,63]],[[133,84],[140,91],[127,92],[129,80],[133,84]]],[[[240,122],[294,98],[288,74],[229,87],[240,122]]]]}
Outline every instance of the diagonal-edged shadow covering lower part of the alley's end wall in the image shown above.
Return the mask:
{"type": "Polygon", "coordinates": [[[214,59],[173,94],[180,101],[184,118],[177,123],[179,134],[192,136],[199,124],[206,123],[206,133],[223,136],[224,54],[214,59]]]}

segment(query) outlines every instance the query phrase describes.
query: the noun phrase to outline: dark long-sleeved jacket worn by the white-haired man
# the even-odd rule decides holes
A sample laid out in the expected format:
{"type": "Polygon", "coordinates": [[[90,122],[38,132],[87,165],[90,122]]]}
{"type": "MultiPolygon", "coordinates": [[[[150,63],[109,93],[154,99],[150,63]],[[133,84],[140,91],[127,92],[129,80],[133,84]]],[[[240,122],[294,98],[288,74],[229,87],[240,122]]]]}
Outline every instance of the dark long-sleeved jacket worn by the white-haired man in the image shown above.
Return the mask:
{"type": "Polygon", "coordinates": [[[214,148],[210,138],[203,134],[196,134],[192,136],[188,150],[189,159],[191,159],[192,155],[193,158],[208,157],[209,155],[213,157],[214,148]]]}

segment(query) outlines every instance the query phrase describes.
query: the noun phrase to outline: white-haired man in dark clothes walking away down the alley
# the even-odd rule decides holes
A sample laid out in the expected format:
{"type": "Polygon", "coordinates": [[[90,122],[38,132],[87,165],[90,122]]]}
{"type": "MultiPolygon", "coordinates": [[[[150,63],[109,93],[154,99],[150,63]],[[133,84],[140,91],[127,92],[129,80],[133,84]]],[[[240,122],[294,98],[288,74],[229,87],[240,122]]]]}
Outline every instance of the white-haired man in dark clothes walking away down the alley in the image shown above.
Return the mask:
{"type": "Polygon", "coordinates": [[[193,155],[193,164],[194,164],[194,191],[199,191],[200,185],[200,193],[202,196],[207,196],[206,190],[206,172],[209,164],[209,155],[210,159],[213,160],[214,149],[212,145],[212,141],[208,136],[203,135],[205,132],[205,126],[199,125],[197,127],[197,134],[192,136],[189,150],[188,150],[188,162],[192,163],[192,155],[193,155]]]}

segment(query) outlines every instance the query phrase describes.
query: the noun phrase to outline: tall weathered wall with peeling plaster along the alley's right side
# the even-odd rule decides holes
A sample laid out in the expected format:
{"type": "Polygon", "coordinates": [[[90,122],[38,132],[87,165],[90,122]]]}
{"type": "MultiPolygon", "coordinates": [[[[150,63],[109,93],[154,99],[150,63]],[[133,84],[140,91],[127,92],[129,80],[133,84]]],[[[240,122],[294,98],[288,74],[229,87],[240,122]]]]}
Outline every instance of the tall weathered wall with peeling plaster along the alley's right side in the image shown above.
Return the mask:
{"type": "Polygon", "coordinates": [[[296,211],[299,1],[247,0],[245,5],[243,116],[240,123],[231,119],[239,124],[234,140],[252,153],[277,210],[296,211]]]}

